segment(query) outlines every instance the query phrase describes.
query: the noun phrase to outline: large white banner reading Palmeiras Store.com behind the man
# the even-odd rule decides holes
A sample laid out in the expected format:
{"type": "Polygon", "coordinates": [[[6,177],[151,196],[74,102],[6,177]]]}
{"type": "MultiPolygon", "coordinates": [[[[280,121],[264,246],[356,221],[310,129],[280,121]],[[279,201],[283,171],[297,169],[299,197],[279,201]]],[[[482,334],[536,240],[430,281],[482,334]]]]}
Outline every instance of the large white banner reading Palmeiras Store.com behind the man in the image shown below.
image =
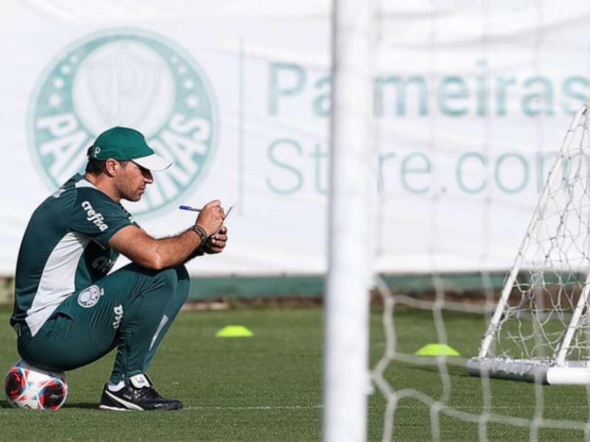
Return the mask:
{"type": "MultiPolygon", "coordinates": [[[[379,271],[507,269],[576,110],[590,5],[390,2],[378,17],[379,271]]],[[[155,236],[179,204],[238,209],[191,272],[326,269],[330,3],[0,2],[0,272],[28,218],[100,131],[146,134],[175,165],[126,204],[155,236]]]]}

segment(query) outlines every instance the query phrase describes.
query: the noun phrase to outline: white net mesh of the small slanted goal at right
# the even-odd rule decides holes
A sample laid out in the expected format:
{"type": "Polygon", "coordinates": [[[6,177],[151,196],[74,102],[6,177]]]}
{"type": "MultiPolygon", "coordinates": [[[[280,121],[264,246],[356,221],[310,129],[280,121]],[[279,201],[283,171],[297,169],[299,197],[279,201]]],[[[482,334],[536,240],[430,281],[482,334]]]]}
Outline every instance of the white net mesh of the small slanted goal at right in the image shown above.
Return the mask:
{"type": "MultiPolygon", "coordinates": [[[[562,347],[568,360],[589,357],[586,299],[572,323],[590,268],[588,136],[584,107],[568,130],[517,255],[516,281],[500,303],[499,323],[489,330],[495,335],[489,357],[554,362],[562,347]],[[566,342],[569,326],[574,332],[566,342]]],[[[506,283],[512,284],[510,278],[506,283]]]]}

